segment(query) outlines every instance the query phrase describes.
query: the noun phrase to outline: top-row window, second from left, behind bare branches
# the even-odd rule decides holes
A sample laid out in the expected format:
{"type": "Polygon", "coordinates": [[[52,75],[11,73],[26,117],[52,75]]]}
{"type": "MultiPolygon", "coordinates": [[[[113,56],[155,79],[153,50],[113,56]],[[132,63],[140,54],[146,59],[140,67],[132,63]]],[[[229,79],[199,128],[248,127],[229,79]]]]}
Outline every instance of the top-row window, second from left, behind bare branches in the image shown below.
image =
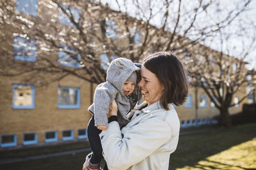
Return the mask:
{"type": "MultiPolygon", "coordinates": [[[[65,6],[63,4],[61,4],[61,7],[63,7],[66,11],[69,10],[70,11],[70,16],[72,15],[72,17],[74,18],[74,21],[76,23],[79,23],[79,18],[81,16],[81,10],[78,10],[77,8],[74,8],[72,6],[65,6]]],[[[63,24],[63,25],[68,25],[70,27],[76,27],[69,19],[70,17],[68,17],[68,15],[63,12],[61,9],[60,9],[60,15],[59,15],[59,21],[60,21],[60,24],[63,24]]]]}

